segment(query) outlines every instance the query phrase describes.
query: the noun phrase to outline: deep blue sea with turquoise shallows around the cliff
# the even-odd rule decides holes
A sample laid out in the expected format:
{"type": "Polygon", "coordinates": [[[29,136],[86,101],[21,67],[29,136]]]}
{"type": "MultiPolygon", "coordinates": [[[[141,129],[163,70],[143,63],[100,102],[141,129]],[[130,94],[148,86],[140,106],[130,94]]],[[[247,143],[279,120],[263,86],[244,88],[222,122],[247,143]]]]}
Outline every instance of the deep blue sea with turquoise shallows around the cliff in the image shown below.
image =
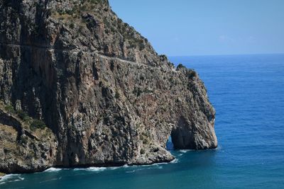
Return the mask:
{"type": "Polygon", "coordinates": [[[284,188],[284,55],[170,60],[207,86],[218,149],[172,151],[169,164],[9,175],[0,188],[284,188]]]}

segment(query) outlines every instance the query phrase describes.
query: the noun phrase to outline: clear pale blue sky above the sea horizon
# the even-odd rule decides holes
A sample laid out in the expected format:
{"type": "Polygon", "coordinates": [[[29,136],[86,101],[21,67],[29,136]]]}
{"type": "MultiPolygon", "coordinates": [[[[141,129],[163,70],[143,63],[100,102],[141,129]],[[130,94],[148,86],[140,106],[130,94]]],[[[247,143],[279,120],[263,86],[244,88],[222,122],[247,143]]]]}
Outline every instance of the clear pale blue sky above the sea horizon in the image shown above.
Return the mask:
{"type": "Polygon", "coordinates": [[[284,52],[284,0],[109,0],[159,54],[284,52]]]}

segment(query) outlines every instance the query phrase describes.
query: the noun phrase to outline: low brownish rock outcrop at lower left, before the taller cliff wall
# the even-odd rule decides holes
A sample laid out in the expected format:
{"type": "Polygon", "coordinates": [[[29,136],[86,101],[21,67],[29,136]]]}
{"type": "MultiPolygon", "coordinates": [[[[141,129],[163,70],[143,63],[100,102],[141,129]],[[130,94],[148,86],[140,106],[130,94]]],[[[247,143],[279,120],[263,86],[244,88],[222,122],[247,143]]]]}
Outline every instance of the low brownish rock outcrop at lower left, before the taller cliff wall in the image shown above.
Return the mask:
{"type": "MultiPolygon", "coordinates": [[[[9,107],[9,106],[6,106],[9,107]]],[[[30,127],[34,122],[18,111],[4,110],[0,101],[0,167],[4,173],[43,171],[53,166],[58,142],[55,134],[45,128],[30,127]]]]}

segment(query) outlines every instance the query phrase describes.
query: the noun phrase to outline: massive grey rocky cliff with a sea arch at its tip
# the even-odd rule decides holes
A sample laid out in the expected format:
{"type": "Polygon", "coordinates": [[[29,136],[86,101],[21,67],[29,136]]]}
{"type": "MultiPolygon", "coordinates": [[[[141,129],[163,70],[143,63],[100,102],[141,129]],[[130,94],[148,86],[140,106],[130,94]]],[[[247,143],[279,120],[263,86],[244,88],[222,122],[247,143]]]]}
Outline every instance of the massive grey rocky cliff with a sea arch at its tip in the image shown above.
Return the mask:
{"type": "Polygon", "coordinates": [[[0,172],[167,162],[169,136],[175,149],[217,147],[197,73],[158,55],[107,0],[0,0],[0,99],[0,172]]]}

